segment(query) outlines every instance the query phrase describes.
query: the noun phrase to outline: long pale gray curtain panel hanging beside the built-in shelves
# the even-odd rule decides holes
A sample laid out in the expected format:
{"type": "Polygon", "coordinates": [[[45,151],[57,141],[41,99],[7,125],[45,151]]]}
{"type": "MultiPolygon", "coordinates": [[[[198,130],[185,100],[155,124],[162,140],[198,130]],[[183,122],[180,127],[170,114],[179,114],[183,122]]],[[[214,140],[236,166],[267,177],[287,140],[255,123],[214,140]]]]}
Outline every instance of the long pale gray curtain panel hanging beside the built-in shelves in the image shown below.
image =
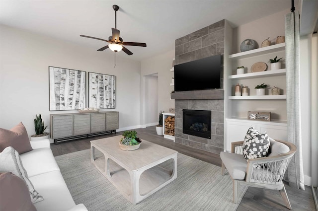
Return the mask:
{"type": "Polygon", "coordinates": [[[297,146],[285,175],[291,187],[305,190],[300,108],[299,22],[298,12],[285,15],[287,140],[297,146]]]}

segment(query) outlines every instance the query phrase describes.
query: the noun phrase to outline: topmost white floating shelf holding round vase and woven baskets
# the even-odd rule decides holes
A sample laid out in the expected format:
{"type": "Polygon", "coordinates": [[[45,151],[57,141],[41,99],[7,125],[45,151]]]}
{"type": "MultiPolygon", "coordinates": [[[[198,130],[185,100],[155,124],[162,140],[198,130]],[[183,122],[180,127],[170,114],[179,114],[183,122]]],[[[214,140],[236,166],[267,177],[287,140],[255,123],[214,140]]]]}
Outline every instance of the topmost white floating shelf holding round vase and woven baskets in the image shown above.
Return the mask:
{"type": "Polygon", "coordinates": [[[247,58],[247,57],[260,56],[263,54],[269,54],[269,53],[274,53],[274,52],[283,51],[283,50],[285,50],[285,43],[280,43],[280,44],[271,45],[271,46],[267,46],[267,47],[263,47],[263,48],[257,48],[257,49],[250,50],[250,51],[244,51],[244,52],[237,53],[237,54],[232,54],[232,55],[229,55],[229,58],[230,59],[243,59],[243,58],[247,58]]]}

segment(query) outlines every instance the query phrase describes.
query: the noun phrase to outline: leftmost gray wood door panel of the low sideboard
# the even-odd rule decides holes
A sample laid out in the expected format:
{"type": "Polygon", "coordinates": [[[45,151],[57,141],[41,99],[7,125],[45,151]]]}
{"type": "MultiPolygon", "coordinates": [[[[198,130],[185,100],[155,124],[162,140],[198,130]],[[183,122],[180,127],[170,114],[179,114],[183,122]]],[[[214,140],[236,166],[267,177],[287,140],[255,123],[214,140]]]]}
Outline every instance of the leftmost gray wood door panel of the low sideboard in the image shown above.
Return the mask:
{"type": "Polygon", "coordinates": [[[52,117],[52,139],[73,136],[73,115],[52,117]]]}

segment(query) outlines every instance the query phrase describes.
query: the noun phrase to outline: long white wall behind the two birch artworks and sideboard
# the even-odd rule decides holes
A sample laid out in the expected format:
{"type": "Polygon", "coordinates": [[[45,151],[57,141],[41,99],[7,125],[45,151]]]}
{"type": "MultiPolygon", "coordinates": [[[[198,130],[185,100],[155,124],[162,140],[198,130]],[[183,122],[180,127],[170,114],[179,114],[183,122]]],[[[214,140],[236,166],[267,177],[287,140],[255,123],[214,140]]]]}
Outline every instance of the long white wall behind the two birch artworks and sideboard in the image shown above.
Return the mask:
{"type": "MultiPolygon", "coordinates": [[[[78,112],[49,111],[48,66],[83,70],[87,76],[88,71],[116,75],[116,109],[103,111],[118,111],[122,130],[140,127],[140,62],[121,57],[113,68],[113,57],[104,52],[4,25],[0,26],[0,54],[1,128],[22,121],[31,136],[36,114],[49,125],[50,114],[78,112]]],[[[88,93],[87,82],[86,86],[88,93]]]]}

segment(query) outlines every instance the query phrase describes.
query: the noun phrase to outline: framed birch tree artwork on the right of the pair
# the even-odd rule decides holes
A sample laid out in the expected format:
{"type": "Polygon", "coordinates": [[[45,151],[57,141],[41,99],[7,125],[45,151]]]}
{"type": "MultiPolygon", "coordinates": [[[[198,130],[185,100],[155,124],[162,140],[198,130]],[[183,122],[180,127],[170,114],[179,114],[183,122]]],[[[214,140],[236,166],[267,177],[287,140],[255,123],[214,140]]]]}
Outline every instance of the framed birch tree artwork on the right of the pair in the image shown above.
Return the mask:
{"type": "Polygon", "coordinates": [[[89,107],[115,108],[115,75],[88,72],[89,107]]]}

